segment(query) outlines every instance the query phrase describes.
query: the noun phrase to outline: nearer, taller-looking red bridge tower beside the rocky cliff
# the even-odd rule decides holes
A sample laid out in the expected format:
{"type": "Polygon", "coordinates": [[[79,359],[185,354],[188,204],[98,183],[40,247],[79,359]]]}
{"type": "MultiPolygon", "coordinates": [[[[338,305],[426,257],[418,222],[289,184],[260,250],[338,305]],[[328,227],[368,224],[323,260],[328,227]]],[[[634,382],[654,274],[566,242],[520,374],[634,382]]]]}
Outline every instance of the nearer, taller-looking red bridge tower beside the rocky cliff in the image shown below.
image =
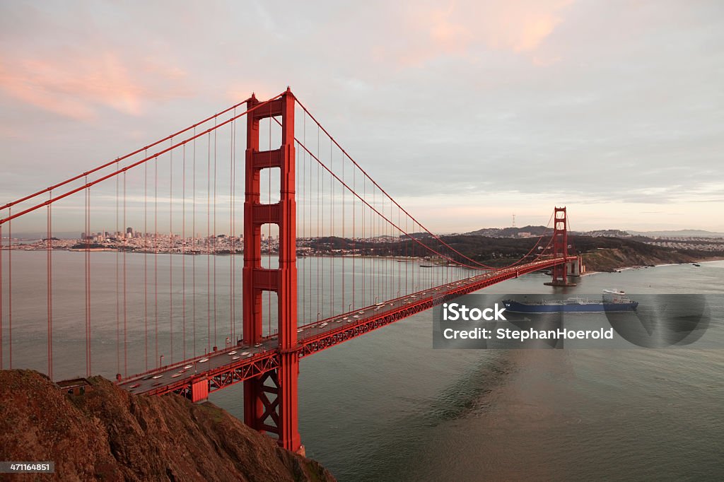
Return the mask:
{"type": "MultiPolygon", "coordinates": [[[[258,104],[252,95],[248,109],[258,104]]],[[[279,365],[274,371],[244,381],[244,421],[251,428],[276,434],[279,445],[302,452],[298,429],[299,348],[297,343],[297,264],[294,104],[291,91],[247,116],[244,200],[243,337],[245,344],[262,338],[262,293],[277,293],[279,365]],[[282,145],[259,151],[259,121],[281,117],[282,145]],[[278,203],[260,199],[262,169],[279,168],[278,203]],[[261,227],[279,227],[279,266],[261,266],[261,227]]],[[[270,174],[271,175],[271,174],[270,174]]]]}

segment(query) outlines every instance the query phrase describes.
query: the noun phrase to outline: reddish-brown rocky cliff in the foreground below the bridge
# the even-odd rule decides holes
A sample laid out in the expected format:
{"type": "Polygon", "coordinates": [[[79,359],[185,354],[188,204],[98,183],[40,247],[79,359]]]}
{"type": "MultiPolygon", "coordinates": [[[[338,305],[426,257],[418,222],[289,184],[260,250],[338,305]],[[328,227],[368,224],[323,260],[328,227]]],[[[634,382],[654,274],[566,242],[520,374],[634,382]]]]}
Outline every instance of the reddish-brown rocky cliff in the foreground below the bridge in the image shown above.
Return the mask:
{"type": "Polygon", "coordinates": [[[55,480],[334,481],[209,402],[89,381],[69,395],[35,371],[0,371],[0,460],[54,461],[55,480]]]}

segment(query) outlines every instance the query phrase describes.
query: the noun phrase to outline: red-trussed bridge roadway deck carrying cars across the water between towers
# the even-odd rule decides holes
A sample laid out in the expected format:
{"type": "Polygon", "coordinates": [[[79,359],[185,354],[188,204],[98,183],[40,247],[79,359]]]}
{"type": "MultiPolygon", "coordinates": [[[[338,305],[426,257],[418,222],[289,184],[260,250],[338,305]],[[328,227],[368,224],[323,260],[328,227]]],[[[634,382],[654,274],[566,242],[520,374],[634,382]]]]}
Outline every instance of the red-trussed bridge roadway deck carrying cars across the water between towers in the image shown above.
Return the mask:
{"type": "MultiPolygon", "coordinates": [[[[458,282],[450,282],[299,326],[297,332],[300,358],[427,310],[454,297],[466,295],[532,271],[552,268],[557,264],[575,260],[575,256],[547,258],[520,266],[488,271],[458,282]]],[[[274,370],[279,365],[277,354],[277,336],[273,335],[253,346],[233,345],[223,350],[130,376],[119,381],[118,384],[135,394],[158,395],[177,392],[195,399],[197,397],[193,395],[192,390],[194,384],[208,380],[208,392],[215,392],[226,386],[274,370]]],[[[203,393],[206,393],[205,389],[203,393]]]]}

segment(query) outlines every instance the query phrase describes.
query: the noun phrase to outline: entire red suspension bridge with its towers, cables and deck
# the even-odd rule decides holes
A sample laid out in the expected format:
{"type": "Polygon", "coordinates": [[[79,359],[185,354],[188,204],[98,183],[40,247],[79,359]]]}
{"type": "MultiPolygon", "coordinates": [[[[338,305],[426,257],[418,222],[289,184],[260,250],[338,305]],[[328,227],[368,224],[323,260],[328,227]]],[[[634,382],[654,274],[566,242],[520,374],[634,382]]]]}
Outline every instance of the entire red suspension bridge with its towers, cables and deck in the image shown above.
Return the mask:
{"type": "MultiPolygon", "coordinates": [[[[193,402],[201,402],[208,399],[212,392],[242,383],[245,423],[257,431],[275,436],[281,447],[303,453],[298,428],[301,358],[428,310],[453,297],[476,292],[524,274],[551,270],[552,282],[547,284],[554,287],[572,286],[571,278],[580,274],[581,259],[569,251],[571,246],[568,245],[569,224],[565,207],[555,208],[550,239],[548,232],[542,234],[526,255],[508,266],[486,266],[455,250],[400,206],[329,135],[289,88],[267,101],[258,101],[252,95],[244,103],[237,103],[122,158],[0,206],[0,240],[8,240],[7,245],[0,242],[0,369],[4,368],[6,359],[9,368],[13,368],[12,348],[16,347],[16,365],[18,355],[21,365],[33,368],[40,368],[41,363],[47,361],[46,373],[52,378],[54,320],[61,318],[63,321],[75,321],[85,314],[86,377],[94,373],[93,368],[95,373],[109,373],[111,367],[115,367],[112,373],[119,373],[117,384],[132,393],[161,395],[174,392],[193,402]],[[245,111],[238,114],[236,109],[242,108],[244,103],[245,111]],[[299,124],[297,130],[303,131],[296,135],[295,109],[300,109],[296,118],[299,124]],[[224,119],[224,116],[228,116],[228,119],[224,119]],[[239,120],[243,116],[246,116],[245,123],[243,119],[239,120]],[[274,140],[274,145],[271,143],[271,127],[269,143],[262,148],[261,144],[264,143],[260,143],[260,138],[264,136],[260,136],[260,122],[261,132],[269,125],[274,126],[274,132],[280,133],[278,148],[275,148],[277,140],[274,140]],[[235,300],[238,293],[235,291],[235,255],[240,250],[234,243],[240,242],[240,238],[234,234],[237,213],[237,185],[234,179],[237,172],[235,166],[242,162],[241,154],[238,160],[236,157],[236,130],[244,124],[243,333],[239,337],[236,325],[238,316],[235,300]],[[277,124],[279,130],[276,130],[277,124]],[[308,128],[308,124],[312,127],[308,128]],[[312,129],[316,129],[316,135],[308,133],[312,129]],[[222,204],[229,215],[230,225],[230,235],[225,238],[230,241],[224,245],[225,251],[216,251],[219,239],[219,233],[216,232],[216,148],[221,142],[216,141],[217,133],[219,138],[224,136],[223,142],[230,146],[230,201],[222,204]],[[324,133],[324,143],[320,143],[321,133],[324,133]],[[164,147],[167,142],[170,142],[169,147],[164,147]],[[149,152],[153,149],[157,151],[149,152]],[[329,157],[326,161],[324,156],[328,149],[329,157]],[[196,167],[197,160],[203,166],[201,161],[204,155],[201,152],[204,151],[206,169],[203,171],[206,172],[206,178],[203,174],[198,176],[196,167]],[[168,167],[169,174],[164,174],[162,177],[165,179],[160,183],[161,187],[168,189],[167,195],[162,195],[167,199],[167,211],[162,212],[162,215],[168,221],[167,231],[161,233],[166,227],[159,229],[156,226],[156,222],[161,219],[158,216],[158,170],[165,169],[164,166],[168,167]],[[211,172],[214,173],[213,203],[211,172]],[[264,203],[261,190],[266,182],[261,182],[261,179],[266,179],[266,174],[269,174],[271,191],[271,172],[279,172],[278,201],[271,201],[270,192],[269,199],[264,203]],[[191,179],[187,179],[187,175],[191,179]],[[197,205],[204,204],[199,202],[201,196],[196,192],[197,177],[205,181],[203,184],[206,185],[205,191],[200,189],[206,198],[205,223],[197,219],[197,205]],[[116,230],[111,233],[104,231],[101,236],[101,233],[92,233],[95,230],[92,229],[93,225],[98,229],[101,227],[98,224],[109,222],[109,216],[101,215],[96,219],[97,215],[91,214],[91,206],[95,206],[99,200],[114,197],[113,187],[109,186],[111,182],[106,181],[115,181],[116,230]],[[129,199],[135,195],[137,200],[142,200],[137,201],[135,210],[126,209],[127,188],[131,195],[129,199]],[[43,198],[39,197],[41,195],[43,198]],[[46,200],[44,195],[49,198],[46,200]],[[73,240],[66,245],[65,250],[70,252],[67,253],[70,257],[62,256],[60,259],[66,263],[63,266],[68,272],[54,274],[52,267],[54,263],[59,263],[54,261],[54,249],[63,248],[63,245],[62,240],[57,240],[53,235],[54,211],[51,208],[59,201],[63,207],[62,203],[66,202],[63,200],[70,200],[73,195],[76,195],[75,200],[80,195],[85,198],[85,201],[75,206],[75,212],[82,213],[82,216],[77,216],[77,221],[83,221],[84,232],[80,243],[76,245],[73,240]],[[28,203],[31,203],[29,207],[28,203]],[[192,211],[190,216],[187,213],[189,204],[192,211]],[[214,206],[213,210],[211,206],[214,206]],[[47,253],[45,274],[37,269],[38,258],[13,254],[21,247],[17,243],[13,245],[12,221],[19,219],[21,227],[28,226],[30,221],[26,220],[32,213],[41,215],[41,220],[46,221],[47,234],[36,247],[47,253]],[[133,221],[127,222],[127,214],[129,219],[135,216],[133,221]],[[211,219],[214,219],[213,231],[210,228],[211,219]],[[135,233],[139,236],[135,236],[129,227],[134,221],[143,223],[143,232],[135,233]],[[187,230],[189,223],[193,232],[191,237],[187,230]],[[153,224],[153,227],[147,224],[153,224]],[[198,227],[203,224],[206,224],[206,236],[198,234],[198,227]],[[278,253],[277,266],[271,263],[272,243],[269,234],[266,240],[262,235],[262,228],[272,225],[279,233],[275,248],[278,253]],[[178,229],[179,226],[181,229],[178,229]],[[317,244],[304,244],[313,242],[317,244]],[[112,282],[109,284],[109,276],[106,276],[109,271],[113,271],[109,265],[113,258],[108,253],[93,253],[93,243],[97,243],[95,248],[101,252],[116,251],[113,255],[115,330],[109,321],[113,316],[106,309],[113,304],[109,297],[109,292],[113,292],[112,282]],[[264,256],[269,254],[269,261],[263,259],[265,249],[264,256]],[[80,258],[73,251],[85,255],[80,258]],[[130,254],[134,251],[137,254],[130,254]],[[196,275],[195,269],[201,263],[197,263],[195,258],[201,253],[206,255],[206,286],[197,293],[196,285],[200,276],[196,275]],[[224,316],[228,313],[230,325],[229,331],[219,334],[216,326],[215,285],[216,260],[219,257],[212,256],[216,253],[230,254],[224,258],[230,263],[227,273],[230,276],[228,311],[224,308],[224,316]],[[311,266],[311,257],[300,257],[304,263],[298,263],[298,253],[315,254],[316,269],[311,266]],[[341,255],[337,256],[339,253],[341,255]],[[172,254],[181,256],[174,257],[172,254]],[[129,258],[128,263],[126,258],[129,258]],[[74,261],[78,266],[70,266],[68,263],[71,259],[80,260],[74,261]],[[214,259],[213,285],[210,281],[211,259],[214,259]],[[98,260],[101,266],[94,266],[94,260],[98,260]],[[22,264],[31,261],[34,264],[22,264]],[[164,266],[157,261],[164,263],[164,266]],[[193,263],[189,280],[188,263],[193,263]],[[16,280],[18,271],[37,274],[37,279],[30,277],[17,280],[13,288],[11,266],[14,266],[16,280]],[[345,266],[348,266],[346,274],[345,266]],[[81,271],[84,273],[82,278],[81,271]],[[162,282],[157,280],[159,273],[165,278],[162,282]],[[316,274],[314,280],[312,273],[316,274]],[[75,284],[67,282],[69,276],[76,276],[75,284]],[[43,277],[46,279],[43,280],[43,277]],[[59,291],[64,297],[73,298],[72,302],[64,300],[67,303],[54,305],[54,278],[62,279],[64,284],[59,291]],[[345,287],[345,280],[351,286],[348,284],[345,287]],[[21,287],[25,282],[25,286],[31,287],[33,292],[37,292],[38,286],[45,285],[46,306],[37,303],[37,296],[19,300],[18,281],[21,287]],[[78,295],[83,285],[85,292],[78,295]],[[77,287],[77,292],[72,291],[73,287],[77,287]],[[13,300],[14,291],[16,295],[13,300]],[[277,296],[276,315],[271,309],[271,293],[277,296]],[[265,295],[269,296],[269,303],[264,303],[265,295]],[[313,304],[313,297],[316,298],[316,305],[313,304]],[[81,303],[83,301],[85,303],[81,303]],[[179,301],[180,310],[174,308],[174,305],[178,307],[179,301]],[[198,310],[197,304],[200,304],[198,310]],[[67,313],[63,312],[64,307],[67,313]],[[203,315],[199,313],[201,311],[203,315]],[[24,318],[22,321],[27,321],[21,324],[20,329],[27,329],[33,337],[27,334],[23,337],[21,334],[20,342],[17,337],[13,342],[13,313],[16,320],[20,314],[24,318]],[[272,324],[271,318],[274,316],[272,324]],[[188,330],[187,318],[191,323],[188,330]],[[264,324],[265,318],[268,324],[264,324]],[[45,319],[47,358],[40,355],[43,360],[38,363],[38,360],[31,358],[40,352],[28,340],[37,338],[36,334],[42,332],[45,319]],[[197,335],[197,321],[206,321],[206,330],[203,330],[206,333],[199,330],[197,335]],[[115,357],[110,353],[112,350],[98,349],[98,344],[109,342],[110,331],[115,331],[115,357]],[[4,334],[7,336],[4,337],[4,334]],[[224,337],[227,340],[224,348],[217,349],[224,337]],[[140,342],[130,342],[141,338],[143,346],[140,342]],[[95,351],[92,350],[94,342],[95,351]],[[18,344],[20,353],[17,352],[18,344]],[[92,351],[96,357],[93,368],[92,351]],[[165,365],[164,353],[168,355],[165,365]],[[97,368],[99,365],[101,368],[97,368]],[[130,373],[142,373],[129,376],[129,365],[130,373]]],[[[240,135],[239,139],[243,137],[240,135]]],[[[222,156],[219,155],[219,158],[222,156]]],[[[274,196],[274,199],[277,197],[274,196]]],[[[101,213],[104,212],[102,208],[104,206],[101,206],[101,213]]],[[[22,248],[24,250],[27,246],[22,248]]],[[[75,331],[83,329],[77,328],[77,324],[72,322],[56,326],[56,330],[64,330],[63,339],[80,339],[75,331]]],[[[57,334],[55,339],[59,339],[57,334]]],[[[72,375],[75,365],[83,365],[74,358],[75,355],[83,355],[79,353],[83,350],[77,350],[77,346],[73,345],[67,351],[70,355],[63,353],[63,368],[66,372],[70,371],[67,375],[72,375]],[[68,365],[73,365],[73,368],[69,369],[68,365]]],[[[70,390],[78,383],[74,381],[65,388],[70,390]]]]}

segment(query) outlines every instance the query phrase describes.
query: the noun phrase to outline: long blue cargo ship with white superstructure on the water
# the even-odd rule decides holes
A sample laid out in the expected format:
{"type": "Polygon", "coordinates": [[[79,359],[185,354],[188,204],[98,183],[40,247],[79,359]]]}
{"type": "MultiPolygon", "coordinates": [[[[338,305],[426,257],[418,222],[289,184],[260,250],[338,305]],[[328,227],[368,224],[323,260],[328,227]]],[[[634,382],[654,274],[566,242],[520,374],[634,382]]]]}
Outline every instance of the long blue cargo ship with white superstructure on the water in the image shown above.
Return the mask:
{"type": "Polygon", "coordinates": [[[571,297],[567,300],[515,301],[502,300],[510,313],[604,313],[606,311],[633,311],[639,306],[618,289],[604,289],[602,300],[571,297]]]}

